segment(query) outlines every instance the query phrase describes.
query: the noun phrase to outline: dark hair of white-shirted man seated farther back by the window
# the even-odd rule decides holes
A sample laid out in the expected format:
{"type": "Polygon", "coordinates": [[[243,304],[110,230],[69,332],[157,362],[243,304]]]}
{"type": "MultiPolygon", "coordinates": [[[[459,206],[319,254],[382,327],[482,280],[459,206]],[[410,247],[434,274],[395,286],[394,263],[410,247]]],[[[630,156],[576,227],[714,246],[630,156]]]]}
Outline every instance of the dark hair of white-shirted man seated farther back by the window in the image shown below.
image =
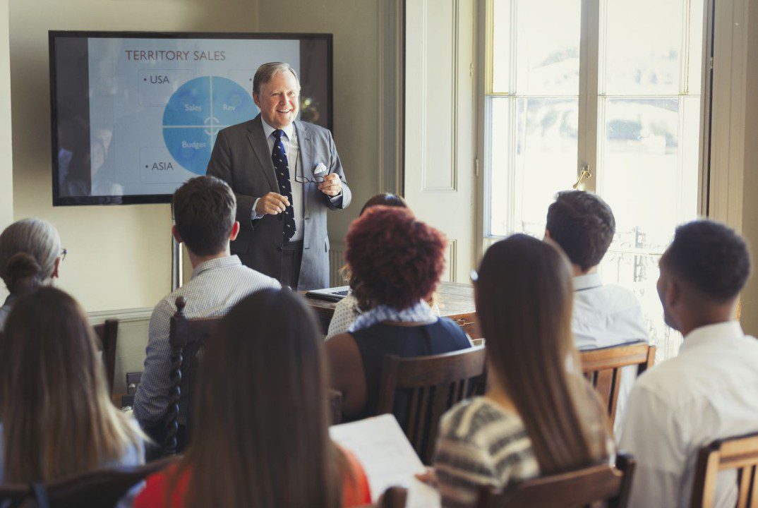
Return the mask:
{"type": "Polygon", "coordinates": [[[568,259],[587,271],[606,255],[615,234],[615,218],[600,196],[567,190],[558,193],[547,209],[545,227],[568,259]]]}

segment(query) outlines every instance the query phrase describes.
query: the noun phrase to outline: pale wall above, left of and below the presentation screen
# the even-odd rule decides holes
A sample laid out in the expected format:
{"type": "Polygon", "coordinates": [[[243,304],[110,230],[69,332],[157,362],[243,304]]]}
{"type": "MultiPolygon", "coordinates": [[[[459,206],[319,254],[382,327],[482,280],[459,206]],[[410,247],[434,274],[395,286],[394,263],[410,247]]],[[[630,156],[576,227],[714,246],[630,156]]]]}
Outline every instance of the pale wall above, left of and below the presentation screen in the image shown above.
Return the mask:
{"type": "MultiPolygon", "coordinates": [[[[168,293],[171,214],[168,205],[52,207],[48,30],[256,31],[257,2],[11,2],[14,217],[41,217],[58,227],[69,252],[60,286],[87,311],[149,307],[168,293]]],[[[0,136],[0,143],[7,139],[0,136]]]]}

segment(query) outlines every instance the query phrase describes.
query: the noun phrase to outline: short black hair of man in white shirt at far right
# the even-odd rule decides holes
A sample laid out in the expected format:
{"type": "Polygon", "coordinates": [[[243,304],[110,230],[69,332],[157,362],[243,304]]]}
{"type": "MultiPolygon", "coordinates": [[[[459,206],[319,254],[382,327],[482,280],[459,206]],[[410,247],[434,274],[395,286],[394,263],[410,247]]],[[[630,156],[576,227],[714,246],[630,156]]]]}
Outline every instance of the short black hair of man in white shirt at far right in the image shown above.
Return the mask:
{"type": "Polygon", "coordinates": [[[700,220],[676,228],[661,262],[717,302],[735,298],[750,276],[750,252],[734,230],[700,220]]]}

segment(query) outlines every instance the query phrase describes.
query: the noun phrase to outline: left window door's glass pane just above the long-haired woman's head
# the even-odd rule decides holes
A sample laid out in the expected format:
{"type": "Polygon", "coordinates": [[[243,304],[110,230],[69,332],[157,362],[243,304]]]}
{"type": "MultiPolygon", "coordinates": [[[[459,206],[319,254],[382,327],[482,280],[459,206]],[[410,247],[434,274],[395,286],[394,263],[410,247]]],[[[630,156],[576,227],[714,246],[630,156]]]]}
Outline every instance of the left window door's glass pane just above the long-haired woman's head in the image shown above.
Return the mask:
{"type": "Polygon", "coordinates": [[[492,99],[492,126],[490,233],[541,237],[547,206],[576,177],[578,99],[492,99]]]}

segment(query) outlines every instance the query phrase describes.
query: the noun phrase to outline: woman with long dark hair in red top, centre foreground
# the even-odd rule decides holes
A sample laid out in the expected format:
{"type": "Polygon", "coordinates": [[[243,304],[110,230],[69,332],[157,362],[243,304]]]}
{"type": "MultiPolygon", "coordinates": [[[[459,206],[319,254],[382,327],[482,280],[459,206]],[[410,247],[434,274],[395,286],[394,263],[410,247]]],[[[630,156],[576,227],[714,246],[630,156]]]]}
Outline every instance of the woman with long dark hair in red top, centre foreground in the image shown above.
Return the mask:
{"type": "Polygon", "coordinates": [[[262,290],[237,303],[208,340],[187,453],[148,479],[136,508],[370,503],[357,459],[330,441],[326,376],[299,296],[262,290]]]}

